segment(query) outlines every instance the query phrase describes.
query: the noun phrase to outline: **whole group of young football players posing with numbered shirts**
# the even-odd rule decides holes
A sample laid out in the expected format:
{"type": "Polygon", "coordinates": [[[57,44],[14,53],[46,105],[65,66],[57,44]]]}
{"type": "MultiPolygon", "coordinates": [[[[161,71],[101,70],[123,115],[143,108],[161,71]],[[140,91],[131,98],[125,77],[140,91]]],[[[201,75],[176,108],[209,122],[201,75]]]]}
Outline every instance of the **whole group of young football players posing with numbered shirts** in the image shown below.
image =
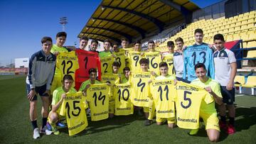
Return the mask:
{"type": "Polygon", "coordinates": [[[99,52],[97,40],[91,40],[90,50],[85,50],[86,37],[80,38],[80,48],[63,47],[65,32],[57,33],[55,45],[43,37],[42,50],[31,56],[26,79],[33,138],[40,138],[40,133],[58,135],[58,127],[65,127],[63,119],[74,135],[86,128],[87,116],[100,121],[134,111],[144,113],[145,126],[156,116],[157,125],[167,121],[169,128],[191,129],[190,135],[201,127],[200,117],[213,142],[218,141],[220,129],[235,133],[235,55],[224,47],[221,34],[214,35],[213,45],[203,43],[201,29],[194,35],[194,45],[185,46],[177,38],[175,48],[169,41],[168,52],[157,51],[153,40],[146,51],[140,41],[127,48],[123,38],[119,48],[118,43],[105,40],[105,50],[99,52]],[[37,96],[43,101],[41,129],[37,96]]]}

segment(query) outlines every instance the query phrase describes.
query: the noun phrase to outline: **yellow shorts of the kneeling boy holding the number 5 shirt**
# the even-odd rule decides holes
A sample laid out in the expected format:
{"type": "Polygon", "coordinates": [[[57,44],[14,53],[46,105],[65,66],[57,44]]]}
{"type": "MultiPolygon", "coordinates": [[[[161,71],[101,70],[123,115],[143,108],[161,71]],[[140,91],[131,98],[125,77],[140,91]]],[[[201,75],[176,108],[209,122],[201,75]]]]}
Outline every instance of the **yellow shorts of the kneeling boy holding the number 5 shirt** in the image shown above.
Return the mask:
{"type": "Polygon", "coordinates": [[[206,130],[215,129],[220,131],[219,120],[217,113],[203,113],[200,111],[200,117],[203,118],[203,123],[206,125],[206,130]]]}

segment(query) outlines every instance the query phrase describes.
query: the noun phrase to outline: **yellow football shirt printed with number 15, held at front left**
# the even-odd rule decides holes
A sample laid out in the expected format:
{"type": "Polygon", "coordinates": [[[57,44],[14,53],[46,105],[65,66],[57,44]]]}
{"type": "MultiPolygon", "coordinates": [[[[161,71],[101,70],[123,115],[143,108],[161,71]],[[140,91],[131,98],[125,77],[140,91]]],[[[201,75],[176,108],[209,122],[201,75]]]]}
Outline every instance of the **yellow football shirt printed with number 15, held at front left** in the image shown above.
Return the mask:
{"type": "Polygon", "coordinates": [[[65,116],[69,135],[75,135],[88,126],[84,109],[82,92],[67,93],[60,109],[60,115],[65,116]]]}

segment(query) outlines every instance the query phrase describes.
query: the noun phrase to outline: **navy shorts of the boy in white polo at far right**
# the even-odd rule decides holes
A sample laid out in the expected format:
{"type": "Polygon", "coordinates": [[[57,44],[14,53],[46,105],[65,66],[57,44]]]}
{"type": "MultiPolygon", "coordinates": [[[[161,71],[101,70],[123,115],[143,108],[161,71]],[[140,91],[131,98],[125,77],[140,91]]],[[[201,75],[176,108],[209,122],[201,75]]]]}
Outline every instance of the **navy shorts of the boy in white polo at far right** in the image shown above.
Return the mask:
{"type": "Polygon", "coordinates": [[[232,105],[235,101],[235,88],[230,91],[226,89],[225,86],[220,87],[221,95],[223,96],[223,103],[232,105]]]}

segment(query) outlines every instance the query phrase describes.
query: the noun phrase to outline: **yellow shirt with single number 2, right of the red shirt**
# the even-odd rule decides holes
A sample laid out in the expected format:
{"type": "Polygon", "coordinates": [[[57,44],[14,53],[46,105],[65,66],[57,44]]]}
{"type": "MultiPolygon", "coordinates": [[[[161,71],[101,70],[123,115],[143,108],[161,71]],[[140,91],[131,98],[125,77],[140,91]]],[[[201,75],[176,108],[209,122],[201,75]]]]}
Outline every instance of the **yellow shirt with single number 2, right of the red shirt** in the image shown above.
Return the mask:
{"type": "Polygon", "coordinates": [[[100,57],[100,65],[102,74],[112,72],[112,63],[114,58],[112,56],[100,57]]]}

